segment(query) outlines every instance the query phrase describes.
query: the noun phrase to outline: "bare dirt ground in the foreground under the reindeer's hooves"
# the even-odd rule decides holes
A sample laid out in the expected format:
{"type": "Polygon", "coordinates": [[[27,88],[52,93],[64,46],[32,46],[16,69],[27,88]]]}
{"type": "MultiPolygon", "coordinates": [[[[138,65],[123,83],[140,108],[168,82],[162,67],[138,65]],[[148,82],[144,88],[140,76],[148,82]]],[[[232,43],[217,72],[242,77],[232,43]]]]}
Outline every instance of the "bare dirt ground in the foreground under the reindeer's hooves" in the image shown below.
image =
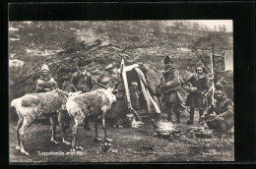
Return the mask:
{"type": "MultiPolygon", "coordinates": [[[[180,128],[188,128],[185,125],[187,119],[181,119],[180,128]]],[[[79,128],[79,140],[84,150],[70,153],[71,145],[63,143],[54,144],[50,141],[51,128],[41,124],[32,124],[25,135],[25,147],[30,156],[22,154],[15,149],[16,123],[10,124],[10,162],[11,163],[60,163],[60,162],[175,162],[175,161],[233,161],[233,144],[226,147],[211,144],[184,143],[182,141],[168,141],[155,134],[150,123],[145,127],[112,128],[107,132],[111,142],[112,151],[103,153],[103,131],[99,130],[99,142],[94,141],[95,129],[91,124],[91,131],[85,131],[83,126],[79,128]]],[[[67,140],[71,141],[71,128],[67,130],[67,140]]],[[[57,127],[57,141],[61,141],[59,128],[57,127]]]]}

